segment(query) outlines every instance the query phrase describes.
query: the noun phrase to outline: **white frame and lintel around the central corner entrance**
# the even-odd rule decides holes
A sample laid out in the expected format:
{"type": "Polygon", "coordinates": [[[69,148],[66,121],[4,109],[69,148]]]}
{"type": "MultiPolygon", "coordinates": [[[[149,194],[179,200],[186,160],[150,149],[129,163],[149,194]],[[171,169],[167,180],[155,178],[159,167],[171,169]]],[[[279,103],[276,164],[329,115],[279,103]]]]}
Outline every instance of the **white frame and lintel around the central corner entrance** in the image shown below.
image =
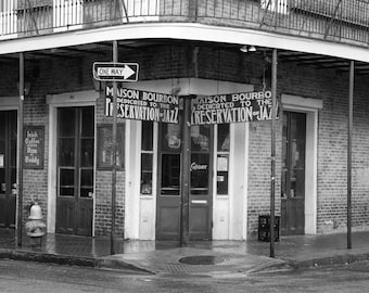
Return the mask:
{"type": "MultiPolygon", "coordinates": [[[[178,78],[176,86],[180,88],[179,95],[215,95],[233,92],[253,91],[254,86],[250,84],[221,81],[203,78],[178,78]]],[[[173,78],[160,80],[141,80],[127,84],[127,88],[147,90],[171,94],[173,78]]],[[[154,174],[153,195],[140,195],[140,145],[141,145],[141,122],[126,120],[126,186],[125,186],[125,238],[140,240],[155,240],[156,221],[156,180],[157,180],[157,123],[154,123],[154,174]]],[[[247,124],[231,125],[231,137],[233,137],[229,161],[229,194],[217,195],[216,186],[213,186],[213,239],[217,240],[244,240],[247,237],[247,124]],[[237,138],[236,138],[237,137],[237,138]],[[242,160],[234,160],[232,154],[242,153],[242,160]],[[234,169],[242,167],[243,173],[234,169]],[[240,220],[242,219],[242,220],[240,220]],[[226,228],[226,232],[224,231],[226,228]]],[[[216,154],[214,154],[216,155],[216,154]]],[[[215,156],[214,156],[215,160],[215,156]]],[[[215,171],[215,165],[213,171],[215,171]]],[[[216,184],[214,181],[213,184],[216,184]]]]}

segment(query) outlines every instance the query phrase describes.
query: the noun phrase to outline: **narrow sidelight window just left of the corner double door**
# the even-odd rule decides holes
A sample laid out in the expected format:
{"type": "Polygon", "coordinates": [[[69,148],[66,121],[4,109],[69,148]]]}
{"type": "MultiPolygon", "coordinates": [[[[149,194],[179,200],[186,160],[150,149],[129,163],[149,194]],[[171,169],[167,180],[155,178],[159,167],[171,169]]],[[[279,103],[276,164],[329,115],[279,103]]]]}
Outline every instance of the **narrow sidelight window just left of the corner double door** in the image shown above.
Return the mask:
{"type": "Polygon", "coordinates": [[[153,156],[153,123],[142,122],[140,193],[143,195],[152,195],[153,156]]]}

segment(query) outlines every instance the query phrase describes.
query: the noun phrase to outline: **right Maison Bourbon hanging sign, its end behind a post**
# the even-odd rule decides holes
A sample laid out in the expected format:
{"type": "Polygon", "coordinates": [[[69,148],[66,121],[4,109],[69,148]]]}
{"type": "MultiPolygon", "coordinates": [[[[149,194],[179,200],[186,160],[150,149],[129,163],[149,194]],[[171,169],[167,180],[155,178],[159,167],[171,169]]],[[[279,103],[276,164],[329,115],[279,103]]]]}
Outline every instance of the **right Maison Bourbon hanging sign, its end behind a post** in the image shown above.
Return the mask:
{"type": "Polygon", "coordinates": [[[192,100],[192,125],[269,119],[271,119],[271,91],[269,90],[198,97],[192,100]]]}

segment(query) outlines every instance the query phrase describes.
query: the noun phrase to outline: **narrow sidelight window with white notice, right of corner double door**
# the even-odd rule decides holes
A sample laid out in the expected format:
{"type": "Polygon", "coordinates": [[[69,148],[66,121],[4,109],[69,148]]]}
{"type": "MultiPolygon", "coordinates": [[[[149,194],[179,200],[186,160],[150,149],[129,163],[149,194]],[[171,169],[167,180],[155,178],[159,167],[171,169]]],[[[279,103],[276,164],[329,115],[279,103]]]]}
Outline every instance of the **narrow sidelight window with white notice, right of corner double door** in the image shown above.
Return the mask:
{"type": "Polygon", "coordinates": [[[229,175],[229,150],[230,150],[230,131],[229,124],[219,124],[217,128],[217,194],[228,194],[228,175],[229,175]]]}

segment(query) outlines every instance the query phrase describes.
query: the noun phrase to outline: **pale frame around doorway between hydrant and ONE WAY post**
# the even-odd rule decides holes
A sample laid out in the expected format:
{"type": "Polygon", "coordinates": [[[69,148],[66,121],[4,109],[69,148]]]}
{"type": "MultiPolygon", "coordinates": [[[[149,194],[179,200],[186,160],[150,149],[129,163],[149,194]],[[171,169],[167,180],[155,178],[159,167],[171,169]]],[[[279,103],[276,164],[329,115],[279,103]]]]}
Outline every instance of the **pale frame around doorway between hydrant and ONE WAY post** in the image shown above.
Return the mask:
{"type": "MultiPolygon", "coordinates": [[[[58,146],[58,107],[74,106],[94,106],[94,136],[97,136],[97,91],[65,92],[61,94],[48,94],[47,105],[49,105],[49,154],[48,154],[48,233],[55,233],[56,225],[56,188],[58,188],[58,165],[56,165],[56,146],[58,146]]],[[[94,139],[94,160],[93,170],[97,169],[97,139],[94,139]]],[[[96,188],[96,176],[93,177],[96,188]]],[[[96,192],[94,192],[96,193],[96,192]]],[[[93,215],[92,215],[92,237],[94,235],[94,212],[96,194],[93,193],[93,215]]]]}

